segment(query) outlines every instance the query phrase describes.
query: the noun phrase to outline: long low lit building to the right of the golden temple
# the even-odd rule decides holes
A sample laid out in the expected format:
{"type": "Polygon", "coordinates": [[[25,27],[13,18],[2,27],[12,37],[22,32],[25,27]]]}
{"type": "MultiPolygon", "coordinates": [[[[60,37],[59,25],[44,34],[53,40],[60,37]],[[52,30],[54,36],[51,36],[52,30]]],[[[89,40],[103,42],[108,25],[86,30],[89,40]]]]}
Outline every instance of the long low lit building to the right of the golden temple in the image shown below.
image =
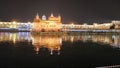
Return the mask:
{"type": "Polygon", "coordinates": [[[113,23],[103,23],[97,24],[94,23],[93,25],[89,24],[62,24],[62,29],[65,30],[105,30],[110,29],[113,23]]]}

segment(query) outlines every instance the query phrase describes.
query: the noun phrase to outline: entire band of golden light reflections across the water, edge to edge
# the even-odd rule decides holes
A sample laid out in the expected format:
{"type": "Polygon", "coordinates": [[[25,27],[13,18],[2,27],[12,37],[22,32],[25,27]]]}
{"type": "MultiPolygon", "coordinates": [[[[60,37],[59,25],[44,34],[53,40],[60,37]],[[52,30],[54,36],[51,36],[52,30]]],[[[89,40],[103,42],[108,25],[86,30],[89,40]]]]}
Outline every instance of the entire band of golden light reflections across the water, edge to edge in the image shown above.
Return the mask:
{"type": "Polygon", "coordinates": [[[0,32],[0,42],[32,42],[36,54],[41,48],[47,48],[51,55],[60,55],[62,42],[95,42],[108,44],[112,47],[120,48],[120,36],[114,34],[79,34],[79,35],[32,35],[29,32],[0,32]]]}

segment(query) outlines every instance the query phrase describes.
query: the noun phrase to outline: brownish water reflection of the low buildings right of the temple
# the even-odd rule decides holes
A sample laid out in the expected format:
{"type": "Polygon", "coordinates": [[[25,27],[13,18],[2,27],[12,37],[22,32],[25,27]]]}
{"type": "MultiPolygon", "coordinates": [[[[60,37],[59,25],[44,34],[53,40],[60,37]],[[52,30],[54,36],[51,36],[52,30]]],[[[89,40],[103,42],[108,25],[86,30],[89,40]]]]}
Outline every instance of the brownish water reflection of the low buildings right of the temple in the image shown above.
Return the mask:
{"type": "Polygon", "coordinates": [[[100,44],[109,44],[113,47],[120,48],[120,36],[110,34],[81,34],[81,35],[63,35],[63,41],[82,41],[82,42],[96,42],[100,44]]]}

